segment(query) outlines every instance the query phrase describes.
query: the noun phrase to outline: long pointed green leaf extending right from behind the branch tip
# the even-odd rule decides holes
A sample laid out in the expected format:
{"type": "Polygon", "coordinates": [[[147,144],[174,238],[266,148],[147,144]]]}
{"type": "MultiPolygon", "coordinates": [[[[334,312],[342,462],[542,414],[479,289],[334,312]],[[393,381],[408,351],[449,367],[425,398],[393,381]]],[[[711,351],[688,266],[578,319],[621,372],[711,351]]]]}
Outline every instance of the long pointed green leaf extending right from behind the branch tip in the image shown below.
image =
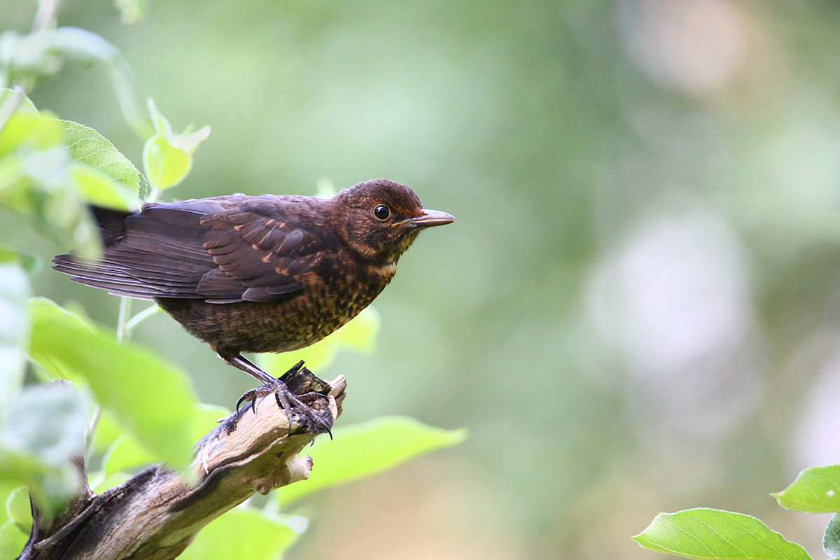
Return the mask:
{"type": "Polygon", "coordinates": [[[407,416],[382,416],[356,426],[333,430],[333,441],[318,438],[307,454],[312,456],[309,479],[284,487],[284,502],[315,490],[360,479],[395,467],[408,459],[440,447],[463,442],[467,431],[431,427],[407,416]]]}

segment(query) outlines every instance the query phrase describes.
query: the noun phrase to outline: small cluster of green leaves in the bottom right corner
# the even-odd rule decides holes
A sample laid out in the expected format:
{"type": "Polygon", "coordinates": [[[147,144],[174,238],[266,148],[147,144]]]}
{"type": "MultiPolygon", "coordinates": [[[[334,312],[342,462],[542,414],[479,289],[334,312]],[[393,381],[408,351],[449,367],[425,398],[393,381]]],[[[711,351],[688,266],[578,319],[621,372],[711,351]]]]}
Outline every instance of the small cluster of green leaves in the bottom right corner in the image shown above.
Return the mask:
{"type": "MultiPolygon", "coordinates": [[[[823,536],[829,557],[840,557],[840,465],[806,468],[793,484],[774,494],[788,510],[835,515],[823,536]]],[[[794,560],[810,558],[805,549],[786,541],[752,516],[731,511],[696,509],[662,513],[633,539],[645,548],[686,558],[794,560]]]]}

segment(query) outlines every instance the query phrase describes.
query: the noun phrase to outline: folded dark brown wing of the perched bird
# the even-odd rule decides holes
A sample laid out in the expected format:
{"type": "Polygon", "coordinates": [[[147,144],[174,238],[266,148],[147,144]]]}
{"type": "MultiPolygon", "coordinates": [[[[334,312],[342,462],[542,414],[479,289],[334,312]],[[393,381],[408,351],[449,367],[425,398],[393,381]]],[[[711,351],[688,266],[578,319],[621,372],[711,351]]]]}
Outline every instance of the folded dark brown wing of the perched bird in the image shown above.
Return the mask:
{"type": "Polygon", "coordinates": [[[302,290],[312,244],[301,228],[206,199],[144,208],[101,259],[59,255],[53,268],[120,296],[279,301],[302,290]]]}

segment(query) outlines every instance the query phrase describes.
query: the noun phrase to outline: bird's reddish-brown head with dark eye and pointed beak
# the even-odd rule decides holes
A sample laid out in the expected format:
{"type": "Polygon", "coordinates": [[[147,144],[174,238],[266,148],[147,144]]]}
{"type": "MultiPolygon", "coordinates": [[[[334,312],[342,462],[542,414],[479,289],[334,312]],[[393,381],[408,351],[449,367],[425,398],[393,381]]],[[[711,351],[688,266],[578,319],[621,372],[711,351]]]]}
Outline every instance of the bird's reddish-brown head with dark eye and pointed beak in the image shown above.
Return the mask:
{"type": "Polygon", "coordinates": [[[421,230],[455,221],[446,212],[423,210],[414,191],[386,179],[340,191],[331,202],[339,237],[375,264],[396,263],[421,230]]]}

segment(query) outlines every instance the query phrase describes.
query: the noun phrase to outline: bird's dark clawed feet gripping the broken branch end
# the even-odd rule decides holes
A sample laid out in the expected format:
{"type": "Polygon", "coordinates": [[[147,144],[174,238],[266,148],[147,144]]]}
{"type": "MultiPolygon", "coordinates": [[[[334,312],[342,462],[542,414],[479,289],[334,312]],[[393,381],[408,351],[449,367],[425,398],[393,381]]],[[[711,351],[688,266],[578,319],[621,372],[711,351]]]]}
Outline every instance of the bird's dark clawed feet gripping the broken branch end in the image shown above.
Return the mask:
{"type": "MultiPolygon", "coordinates": [[[[290,433],[293,423],[292,414],[297,413],[303,416],[305,423],[309,427],[315,428],[318,432],[327,432],[332,439],[333,434],[330,432],[333,424],[332,415],[327,414],[325,418],[323,411],[316,410],[312,407],[312,404],[320,399],[326,400],[328,404],[329,400],[327,395],[330,388],[327,383],[316,378],[308,369],[304,368],[303,361],[295,364],[280,379],[270,379],[265,385],[260,385],[255,389],[246,391],[244,395],[239,397],[236,403],[237,414],[239,414],[239,406],[243,402],[250,402],[251,411],[256,413],[257,400],[267,395],[274,395],[277,406],[281,410],[286,411],[286,416],[289,418],[290,433]],[[321,385],[325,385],[325,387],[321,387],[315,382],[319,382],[321,385]],[[291,385],[291,389],[289,385],[291,385]],[[305,400],[311,401],[312,404],[308,404],[305,400]]],[[[247,407],[243,410],[247,410],[247,407]]]]}

